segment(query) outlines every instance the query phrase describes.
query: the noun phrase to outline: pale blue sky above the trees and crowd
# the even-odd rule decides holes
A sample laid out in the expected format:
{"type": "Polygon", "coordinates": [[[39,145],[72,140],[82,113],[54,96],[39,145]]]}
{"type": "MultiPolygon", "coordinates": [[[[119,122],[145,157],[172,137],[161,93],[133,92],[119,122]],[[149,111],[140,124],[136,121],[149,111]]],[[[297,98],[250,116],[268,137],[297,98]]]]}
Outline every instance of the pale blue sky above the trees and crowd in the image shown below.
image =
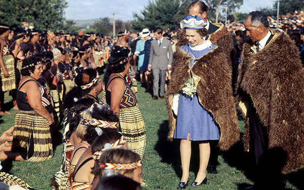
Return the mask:
{"type": "MultiPolygon", "coordinates": [[[[133,20],[133,12],[140,13],[149,0],[67,0],[67,19],[87,20],[113,17],[120,20],[133,20]]],[[[153,0],[150,0],[153,1],[153,0]]],[[[243,0],[239,12],[248,13],[258,8],[272,7],[273,0],[243,0]]]]}

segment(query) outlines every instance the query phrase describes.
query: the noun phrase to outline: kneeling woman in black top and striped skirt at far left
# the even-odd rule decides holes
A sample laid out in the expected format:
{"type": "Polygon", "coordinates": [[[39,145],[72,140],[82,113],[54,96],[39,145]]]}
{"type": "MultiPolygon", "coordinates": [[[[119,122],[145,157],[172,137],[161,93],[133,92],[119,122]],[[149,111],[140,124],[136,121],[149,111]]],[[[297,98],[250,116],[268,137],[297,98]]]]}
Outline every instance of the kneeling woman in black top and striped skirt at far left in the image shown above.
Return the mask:
{"type": "Polygon", "coordinates": [[[12,151],[0,151],[0,160],[40,162],[53,156],[50,125],[54,123],[51,105],[41,79],[43,61],[35,56],[24,59],[17,92],[12,151]]]}

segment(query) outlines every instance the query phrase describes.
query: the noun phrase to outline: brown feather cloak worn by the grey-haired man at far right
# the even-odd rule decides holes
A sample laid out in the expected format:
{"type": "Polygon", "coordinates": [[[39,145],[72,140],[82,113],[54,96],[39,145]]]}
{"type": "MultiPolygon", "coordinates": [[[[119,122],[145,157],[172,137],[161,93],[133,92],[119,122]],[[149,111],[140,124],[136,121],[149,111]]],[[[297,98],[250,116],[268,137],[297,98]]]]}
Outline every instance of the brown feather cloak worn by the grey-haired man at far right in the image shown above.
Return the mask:
{"type": "MultiPolygon", "coordinates": [[[[278,30],[272,33],[270,43],[256,54],[251,45],[244,44],[236,91],[239,102],[246,93],[250,95],[261,124],[267,128],[269,150],[279,148],[286,154],[281,170],[286,174],[304,168],[304,71],[294,43],[278,30]]],[[[248,150],[246,109],[243,114],[243,142],[248,150]]]]}

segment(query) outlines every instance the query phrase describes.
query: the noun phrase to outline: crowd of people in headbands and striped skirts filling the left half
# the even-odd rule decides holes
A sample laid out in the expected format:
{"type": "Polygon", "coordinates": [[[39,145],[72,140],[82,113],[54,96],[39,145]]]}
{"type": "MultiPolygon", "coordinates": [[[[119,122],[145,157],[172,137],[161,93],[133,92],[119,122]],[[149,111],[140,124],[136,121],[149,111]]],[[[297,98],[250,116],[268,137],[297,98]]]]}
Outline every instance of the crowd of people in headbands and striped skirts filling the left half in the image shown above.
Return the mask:
{"type": "Polygon", "coordinates": [[[1,114],[11,114],[3,106],[7,91],[18,109],[14,127],[1,136],[0,160],[50,160],[63,126],[63,162],[52,178],[56,189],[107,189],[112,175],[140,189],[145,126],[131,51],[101,34],[4,23],[0,43],[1,114]]]}

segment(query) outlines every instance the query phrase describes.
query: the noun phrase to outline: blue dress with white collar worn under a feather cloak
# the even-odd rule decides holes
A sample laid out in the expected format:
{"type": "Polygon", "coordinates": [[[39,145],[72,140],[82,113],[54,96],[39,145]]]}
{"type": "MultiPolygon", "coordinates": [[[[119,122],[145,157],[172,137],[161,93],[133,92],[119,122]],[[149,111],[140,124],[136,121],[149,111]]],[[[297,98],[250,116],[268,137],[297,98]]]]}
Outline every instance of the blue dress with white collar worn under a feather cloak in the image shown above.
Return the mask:
{"type": "MultiPolygon", "coordinates": [[[[196,47],[191,47],[189,44],[182,47],[189,56],[193,57],[190,61],[191,67],[194,59],[202,57],[214,48],[210,41],[196,47]]],[[[220,136],[212,114],[201,105],[197,94],[193,98],[188,98],[181,92],[174,138],[187,139],[188,134],[191,141],[218,140],[220,136]]]]}

